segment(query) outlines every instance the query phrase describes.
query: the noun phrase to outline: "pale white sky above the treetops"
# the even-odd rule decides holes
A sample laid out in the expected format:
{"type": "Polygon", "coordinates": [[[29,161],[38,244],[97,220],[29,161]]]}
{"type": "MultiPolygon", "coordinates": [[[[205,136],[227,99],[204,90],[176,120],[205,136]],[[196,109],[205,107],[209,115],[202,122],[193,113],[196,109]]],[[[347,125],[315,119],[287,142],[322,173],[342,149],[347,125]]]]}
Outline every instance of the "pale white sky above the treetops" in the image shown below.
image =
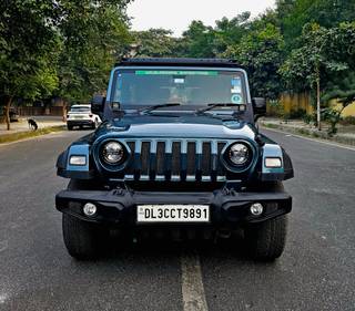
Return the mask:
{"type": "Polygon", "coordinates": [[[134,0],[128,7],[128,14],[133,18],[133,30],[164,28],[179,37],[193,20],[214,25],[215,20],[244,11],[256,17],[274,3],[275,0],[134,0]]]}

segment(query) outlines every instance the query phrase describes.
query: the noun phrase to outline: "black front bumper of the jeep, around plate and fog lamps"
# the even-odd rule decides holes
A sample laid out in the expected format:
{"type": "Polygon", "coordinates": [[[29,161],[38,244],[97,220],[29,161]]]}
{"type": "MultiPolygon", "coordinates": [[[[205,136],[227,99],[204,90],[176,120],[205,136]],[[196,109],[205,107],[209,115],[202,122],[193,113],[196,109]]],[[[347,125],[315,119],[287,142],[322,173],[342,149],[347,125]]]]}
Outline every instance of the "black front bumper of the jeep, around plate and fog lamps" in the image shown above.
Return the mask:
{"type": "MultiPolygon", "coordinates": [[[[55,196],[58,210],[77,218],[114,226],[138,226],[138,205],[209,205],[211,221],[205,225],[223,227],[231,224],[261,222],[287,214],[292,209],[292,198],[287,193],[236,193],[216,190],[213,193],[154,193],[115,190],[62,190],[55,196]],[[95,217],[83,214],[82,207],[92,203],[98,207],[95,217]],[[261,203],[264,212],[253,216],[250,206],[261,203]]],[[[150,224],[152,225],[152,224],[150,224]]],[[[154,224],[160,225],[160,222],[154,224]]],[[[166,224],[164,224],[166,226],[166,224]]],[[[176,226],[176,224],[174,224],[176,226]]],[[[194,225],[187,222],[184,225],[194,225]]],[[[142,226],[140,224],[140,226],[142,226]]],[[[149,225],[144,225],[149,226],[149,225]]]]}

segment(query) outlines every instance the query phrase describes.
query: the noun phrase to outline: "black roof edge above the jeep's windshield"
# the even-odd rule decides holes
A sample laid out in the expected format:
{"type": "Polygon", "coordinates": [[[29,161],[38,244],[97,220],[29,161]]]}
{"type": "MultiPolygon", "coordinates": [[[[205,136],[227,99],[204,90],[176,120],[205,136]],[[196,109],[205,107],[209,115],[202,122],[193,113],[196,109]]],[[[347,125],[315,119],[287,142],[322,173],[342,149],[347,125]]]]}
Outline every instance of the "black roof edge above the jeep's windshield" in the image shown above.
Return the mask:
{"type": "Polygon", "coordinates": [[[243,68],[234,60],[226,59],[122,59],[116,66],[203,66],[203,68],[243,68]]]}

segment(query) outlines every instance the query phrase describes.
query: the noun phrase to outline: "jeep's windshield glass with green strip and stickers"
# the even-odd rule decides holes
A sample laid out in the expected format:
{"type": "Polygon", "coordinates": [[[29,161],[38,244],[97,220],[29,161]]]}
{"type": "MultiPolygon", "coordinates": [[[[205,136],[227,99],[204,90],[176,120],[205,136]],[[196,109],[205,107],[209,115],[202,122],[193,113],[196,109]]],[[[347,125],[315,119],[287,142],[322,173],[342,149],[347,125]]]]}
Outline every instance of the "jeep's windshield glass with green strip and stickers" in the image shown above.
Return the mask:
{"type": "Polygon", "coordinates": [[[217,70],[121,70],[116,72],[113,102],[123,108],[180,103],[202,106],[210,103],[245,104],[241,72],[217,70]]]}

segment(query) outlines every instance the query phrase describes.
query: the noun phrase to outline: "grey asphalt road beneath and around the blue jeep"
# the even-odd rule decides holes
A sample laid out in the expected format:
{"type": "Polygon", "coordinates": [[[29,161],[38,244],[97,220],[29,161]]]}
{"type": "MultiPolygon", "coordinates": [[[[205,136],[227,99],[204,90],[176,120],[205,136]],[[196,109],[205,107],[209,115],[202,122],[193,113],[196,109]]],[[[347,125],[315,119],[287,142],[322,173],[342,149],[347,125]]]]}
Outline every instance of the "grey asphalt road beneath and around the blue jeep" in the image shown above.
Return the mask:
{"type": "Polygon", "coordinates": [[[355,310],[355,151],[264,132],[296,173],[285,183],[294,208],[275,263],[253,262],[237,245],[154,242],[78,262],[54,209],[67,183],[54,162],[84,132],[0,146],[0,310],[189,310],[194,297],[201,310],[355,310]]]}

